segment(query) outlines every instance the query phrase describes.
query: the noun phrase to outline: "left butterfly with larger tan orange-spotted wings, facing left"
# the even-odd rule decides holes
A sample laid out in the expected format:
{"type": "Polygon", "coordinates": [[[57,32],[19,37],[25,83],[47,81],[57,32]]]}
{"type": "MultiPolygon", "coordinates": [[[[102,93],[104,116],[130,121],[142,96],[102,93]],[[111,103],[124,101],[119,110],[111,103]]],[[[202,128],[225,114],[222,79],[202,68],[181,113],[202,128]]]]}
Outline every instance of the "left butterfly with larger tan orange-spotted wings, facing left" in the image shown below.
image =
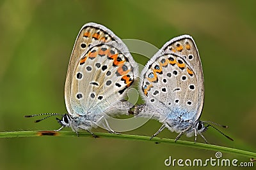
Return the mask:
{"type": "MultiPolygon", "coordinates": [[[[56,118],[61,125],[57,131],[71,127],[77,135],[79,129],[93,134],[90,129],[102,125],[109,132],[116,133],[109,126],[106,115],[124,114],[132,107],[123,99],[137,76],[138,65],[120,38],[103,25],[83,25],[68,64],[65,82],[68,114],[56,118]]],[[[38,115],[48,115],[45,117],[48,118],[61,114],[38,115]]]]}

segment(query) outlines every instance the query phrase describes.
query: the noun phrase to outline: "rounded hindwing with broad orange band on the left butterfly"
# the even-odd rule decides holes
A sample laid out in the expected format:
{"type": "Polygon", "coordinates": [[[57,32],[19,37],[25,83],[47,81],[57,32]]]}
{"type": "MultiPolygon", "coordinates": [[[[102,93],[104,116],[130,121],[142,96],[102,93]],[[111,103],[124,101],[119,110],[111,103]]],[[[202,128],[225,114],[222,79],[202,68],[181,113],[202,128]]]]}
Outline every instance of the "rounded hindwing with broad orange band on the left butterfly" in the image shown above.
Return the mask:
{"type": "Polygon", "coordinates": [[[70,103],[79,115],[108,110],[123,99],[136,77],[137,65],[120,43],[90,48],[77,63],[70,103]]]}

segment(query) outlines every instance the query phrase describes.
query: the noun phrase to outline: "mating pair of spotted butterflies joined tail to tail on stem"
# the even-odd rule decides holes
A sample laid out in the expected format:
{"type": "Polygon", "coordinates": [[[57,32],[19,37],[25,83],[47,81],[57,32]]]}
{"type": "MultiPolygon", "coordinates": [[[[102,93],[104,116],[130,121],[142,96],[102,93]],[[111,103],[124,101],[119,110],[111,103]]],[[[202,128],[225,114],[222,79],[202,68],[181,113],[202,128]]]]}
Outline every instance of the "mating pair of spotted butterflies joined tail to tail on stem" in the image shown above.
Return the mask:
{"type": "Polygon", "coordinates": [[[106,115],[131,111],[136,117],[154,118],[163,124],[152,138],[167,127],[179,133],[175,140],[186,133],[195,135],[196,141],[198,134],[204,138],[202,132],[212,126],[212,122],[199,120],[204,105],[204,76],[195,41],[188,35],[168,41],[138,76],[138,64],[120,38],[103,25],[83,25],[68,65],[65,103],[68,114],[56,118],[61,125],[57,131],[71,127],[77,135],[79,129],[93,134],[90,129],[99,124],[116,133],[106,115]],[[124,97],[137,78],[145,104],[133,108],[124,97]]]}

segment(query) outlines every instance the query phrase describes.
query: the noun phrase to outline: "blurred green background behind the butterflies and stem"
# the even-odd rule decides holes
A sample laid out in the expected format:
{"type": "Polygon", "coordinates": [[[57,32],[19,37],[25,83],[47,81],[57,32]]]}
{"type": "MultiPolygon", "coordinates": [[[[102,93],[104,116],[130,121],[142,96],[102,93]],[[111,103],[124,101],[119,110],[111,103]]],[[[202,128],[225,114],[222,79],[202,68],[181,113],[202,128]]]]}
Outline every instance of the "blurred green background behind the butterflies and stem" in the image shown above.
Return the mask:
{"type": "MultiPolygon", "coordinates": [[[[81,26],[97,22],[121,39],[141,39],[158,48],[175,36],[193,36],[205,78],[202,120],[228,125],[221,131],[235,141],[214,129],[205,138],[212,144],[256,152],[255,6],[256,1],[1,0],[0,131],[60,127],[54,118],[34,124],[35,119],[23,115],[67,113],[63,91],[70,53],[81,26]]],[[[147,62],[140,55],[134,59],[147,62]]],[[[127,134],[151,136],[160,126],[150,120],[127,134]]],[[[159,134],[176,136],[166,129],[159,134]]],[[[199,138],[198,142],[204,141],[199,138]]],[[[207,150],[122,139],[0,139],[0,169],[182,169],[166,167],[164,160],[214,155],[207,150]]],[[[249,161],[228,153],[223,158],[249,161]]]]}

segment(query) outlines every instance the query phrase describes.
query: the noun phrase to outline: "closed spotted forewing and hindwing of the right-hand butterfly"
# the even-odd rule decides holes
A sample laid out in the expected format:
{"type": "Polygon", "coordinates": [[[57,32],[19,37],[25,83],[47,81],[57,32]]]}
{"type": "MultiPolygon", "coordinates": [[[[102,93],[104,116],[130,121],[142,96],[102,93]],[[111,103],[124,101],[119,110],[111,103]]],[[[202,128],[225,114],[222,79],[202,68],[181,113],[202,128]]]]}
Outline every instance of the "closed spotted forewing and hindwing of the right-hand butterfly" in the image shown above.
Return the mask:
{"type": "Polygon", "coordinates": [[[141,94],[160,122],[198,120],[204,104],[204,77],[195,41],[183,35],[168,41],[141,72],[141,94]]]}

